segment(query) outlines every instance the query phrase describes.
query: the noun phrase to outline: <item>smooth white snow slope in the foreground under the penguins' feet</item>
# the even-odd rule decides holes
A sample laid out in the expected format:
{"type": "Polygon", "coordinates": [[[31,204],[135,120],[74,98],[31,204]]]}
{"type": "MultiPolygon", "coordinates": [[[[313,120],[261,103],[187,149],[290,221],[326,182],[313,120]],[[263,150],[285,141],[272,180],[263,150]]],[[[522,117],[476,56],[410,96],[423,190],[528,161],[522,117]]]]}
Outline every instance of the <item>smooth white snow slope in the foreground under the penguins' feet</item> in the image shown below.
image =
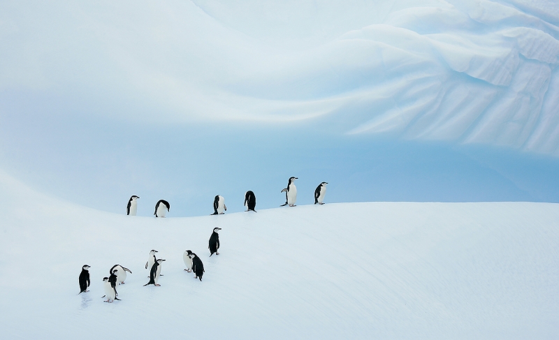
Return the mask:
{"type": "Polygon", "coordinates": [[[110,214],[0,177],[5,339],[554,339],[559,205],[377,202],[110,214]],[[208,239],[220,232],[221,255],[208,239]],[[147,255],[166,258],[143,287],[147,255]],[[182,252],[201,257],[200,282],[182,252]],[[89,293],[78,295],[82,265],[89,293]],[[131,269],[122,301],[102,278],[131,269]]]}

